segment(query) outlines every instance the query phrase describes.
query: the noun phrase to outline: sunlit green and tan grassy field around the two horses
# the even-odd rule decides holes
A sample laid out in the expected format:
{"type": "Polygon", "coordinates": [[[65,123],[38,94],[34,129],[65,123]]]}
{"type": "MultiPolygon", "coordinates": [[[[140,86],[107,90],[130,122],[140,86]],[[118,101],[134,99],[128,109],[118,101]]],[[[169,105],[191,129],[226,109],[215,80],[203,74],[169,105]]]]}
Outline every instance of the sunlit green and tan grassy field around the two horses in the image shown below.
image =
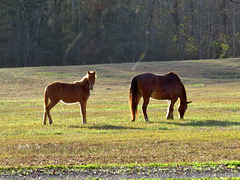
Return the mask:
{"type": "MultiPolygon", "coordinates": [[[[240,59],[0,69],[0,166],[149,164],[240,160],[240,59]],[[98,78],[82,125],[79,105],[59,103],[42,125],[43,91],[87,70],[98,78]],[[167,102],[151,100],[145,123],[130,122],[128,89],[139,73],[177,73],[193,101],[166,120],[167,102]]],[[[142,101],[140,102],[140,104],[142,101]]]]}

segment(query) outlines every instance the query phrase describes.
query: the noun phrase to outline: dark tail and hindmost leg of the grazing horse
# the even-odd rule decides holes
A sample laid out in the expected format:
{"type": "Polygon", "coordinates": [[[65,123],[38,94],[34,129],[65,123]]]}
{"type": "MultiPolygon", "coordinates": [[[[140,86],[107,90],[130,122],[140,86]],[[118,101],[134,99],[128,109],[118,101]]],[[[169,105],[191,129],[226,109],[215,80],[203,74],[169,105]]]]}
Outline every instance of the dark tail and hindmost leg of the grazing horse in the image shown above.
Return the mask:
{"type": "Polygon", "coordinates": [[[129,107],[131,111],[131,121],[135,121],[137,115],[137,105],[139,103],[139,90],[137,85],[138,78],[135,76],[131,81],[131,86],[129,89],[129,107]]]}

